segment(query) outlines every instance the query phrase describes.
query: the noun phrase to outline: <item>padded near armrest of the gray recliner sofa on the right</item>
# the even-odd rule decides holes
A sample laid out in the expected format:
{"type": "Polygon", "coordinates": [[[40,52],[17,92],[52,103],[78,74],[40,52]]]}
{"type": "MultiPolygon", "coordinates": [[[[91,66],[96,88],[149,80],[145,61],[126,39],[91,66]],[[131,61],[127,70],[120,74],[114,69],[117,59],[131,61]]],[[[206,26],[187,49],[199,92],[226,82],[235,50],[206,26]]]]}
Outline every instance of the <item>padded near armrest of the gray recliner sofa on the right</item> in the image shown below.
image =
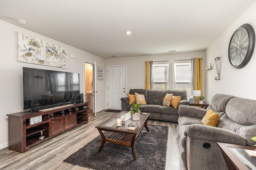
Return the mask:
{"type": "Polygon", "coordinates": [[[208,125],[190,125],[186,127],[184,135],[200,140],[246,145],[246,139],[238,133],[208,125]]]}

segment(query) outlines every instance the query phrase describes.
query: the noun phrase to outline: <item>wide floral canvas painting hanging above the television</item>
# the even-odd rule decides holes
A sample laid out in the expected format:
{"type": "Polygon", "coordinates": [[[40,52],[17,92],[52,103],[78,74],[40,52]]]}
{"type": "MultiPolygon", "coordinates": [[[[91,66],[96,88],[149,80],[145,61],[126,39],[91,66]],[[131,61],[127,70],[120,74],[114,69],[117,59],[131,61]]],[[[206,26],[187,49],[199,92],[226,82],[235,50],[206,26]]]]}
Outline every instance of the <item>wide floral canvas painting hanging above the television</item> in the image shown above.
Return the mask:
{"type": "Polygon", "coordinates": [[[68,68],[67,49],[18,32],[18,61],[68,68]]]}

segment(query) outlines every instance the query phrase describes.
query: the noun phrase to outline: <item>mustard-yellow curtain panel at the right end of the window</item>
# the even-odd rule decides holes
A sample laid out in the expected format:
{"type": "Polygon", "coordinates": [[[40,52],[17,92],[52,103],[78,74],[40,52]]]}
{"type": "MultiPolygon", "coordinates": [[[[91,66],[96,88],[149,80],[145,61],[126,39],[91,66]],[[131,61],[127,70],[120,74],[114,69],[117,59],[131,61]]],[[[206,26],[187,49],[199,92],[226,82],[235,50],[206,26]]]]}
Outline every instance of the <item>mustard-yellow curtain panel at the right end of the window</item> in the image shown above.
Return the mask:
{"type": "Polygon", "coordinates": [[[194,90],[201,90],[203,95],[202,58],[194,58],[194,90]]]}

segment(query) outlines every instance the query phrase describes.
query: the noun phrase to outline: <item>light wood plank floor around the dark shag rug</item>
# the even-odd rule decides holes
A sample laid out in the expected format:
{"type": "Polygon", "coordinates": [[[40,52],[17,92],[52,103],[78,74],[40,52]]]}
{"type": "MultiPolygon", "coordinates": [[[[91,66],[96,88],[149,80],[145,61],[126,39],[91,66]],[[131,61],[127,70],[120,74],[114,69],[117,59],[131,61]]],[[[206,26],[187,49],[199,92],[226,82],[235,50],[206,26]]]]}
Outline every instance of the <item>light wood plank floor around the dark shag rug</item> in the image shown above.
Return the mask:
{"type": "MultiPolygon", "coordinates": [[[[83,147],[99,135],[96,125],[117,113],[100,111],[97,116],[89,113],[89,122],[76,127],[48,141],[31,147],[25,153],[12,150],[0,150],[0,170],[88,170],[62,162],[76,150],[83,147]]],[[[148,120],[148,125],[162,125],[169,127],[168,147],[166,155],[166,170],[184,170],[178,150],[178,136],[176,128],[178,123],[148,120]]],[[[135,148],[136,152],[136,148],[135,148]]]]}

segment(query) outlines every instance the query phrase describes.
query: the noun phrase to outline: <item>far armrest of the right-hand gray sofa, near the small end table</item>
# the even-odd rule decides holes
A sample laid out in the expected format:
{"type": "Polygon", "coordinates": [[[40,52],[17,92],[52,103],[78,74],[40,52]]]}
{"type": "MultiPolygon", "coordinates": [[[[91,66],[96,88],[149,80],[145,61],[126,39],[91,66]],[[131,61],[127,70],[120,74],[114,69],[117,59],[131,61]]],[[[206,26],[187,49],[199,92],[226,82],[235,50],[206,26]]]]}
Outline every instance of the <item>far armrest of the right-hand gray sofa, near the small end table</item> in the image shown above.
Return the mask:
{"type": "Polygon", "coordinates": [[[206,109],[194,106],[179,105],[179,116],[194,117],[202,119],[206,114],[206,109]]]}

